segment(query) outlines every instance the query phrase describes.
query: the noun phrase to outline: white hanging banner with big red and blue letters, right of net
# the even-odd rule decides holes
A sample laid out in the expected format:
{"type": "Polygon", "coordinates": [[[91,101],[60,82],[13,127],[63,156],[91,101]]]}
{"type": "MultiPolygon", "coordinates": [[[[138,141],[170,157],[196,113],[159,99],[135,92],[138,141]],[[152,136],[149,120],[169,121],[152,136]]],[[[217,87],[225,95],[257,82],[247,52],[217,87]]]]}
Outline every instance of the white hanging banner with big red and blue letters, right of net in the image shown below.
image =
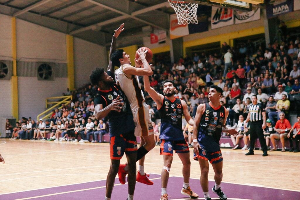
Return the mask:
{"type": "Polygon", "coordinates": [[[233,25],[233,10],[224,7],[211,7],[211,29],[228,25],[233,25]]]}

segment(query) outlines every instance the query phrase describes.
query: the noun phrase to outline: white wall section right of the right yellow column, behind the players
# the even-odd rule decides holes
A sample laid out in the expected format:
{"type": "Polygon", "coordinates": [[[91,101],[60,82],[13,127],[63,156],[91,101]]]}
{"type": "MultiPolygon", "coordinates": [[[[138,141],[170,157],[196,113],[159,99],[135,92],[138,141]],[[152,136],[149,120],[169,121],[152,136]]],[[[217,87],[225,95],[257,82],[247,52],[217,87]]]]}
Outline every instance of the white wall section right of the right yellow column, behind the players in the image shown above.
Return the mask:
{"type": "Polygon", "coordinates": [[[74,37],[75,88],[90,82],[91,71],[96,67],[107,69],[105,47],[74,37]]]}

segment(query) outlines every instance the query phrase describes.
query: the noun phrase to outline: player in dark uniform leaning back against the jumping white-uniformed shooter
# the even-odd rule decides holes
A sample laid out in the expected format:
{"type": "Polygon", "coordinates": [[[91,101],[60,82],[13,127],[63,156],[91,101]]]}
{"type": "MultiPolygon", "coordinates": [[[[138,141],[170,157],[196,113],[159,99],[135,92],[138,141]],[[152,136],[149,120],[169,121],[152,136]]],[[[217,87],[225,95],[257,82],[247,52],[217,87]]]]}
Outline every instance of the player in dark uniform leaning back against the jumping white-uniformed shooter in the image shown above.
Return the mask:
{"type": "MultiPolygon", "coordinates": [[[[123,26],[124,24],[115,30],[111,50],[116,45],[116,37],[124,30],[123,26]]],[[[110,61],[109,68],[111,64],[110,61]]],[[[128,162],[128,200],[132,200],[136,183],[137,141],[129,102],[119,86],[114,83],[114,79],[103,68],[96,68],[91,73],[90,79],[93,85],[99,87],[94,100],[95,116],[98,120],[106,116],[109,119],[111,164],[106,179],[105,200],[110,200],[120,159],[124,153],[128,162]]]]}

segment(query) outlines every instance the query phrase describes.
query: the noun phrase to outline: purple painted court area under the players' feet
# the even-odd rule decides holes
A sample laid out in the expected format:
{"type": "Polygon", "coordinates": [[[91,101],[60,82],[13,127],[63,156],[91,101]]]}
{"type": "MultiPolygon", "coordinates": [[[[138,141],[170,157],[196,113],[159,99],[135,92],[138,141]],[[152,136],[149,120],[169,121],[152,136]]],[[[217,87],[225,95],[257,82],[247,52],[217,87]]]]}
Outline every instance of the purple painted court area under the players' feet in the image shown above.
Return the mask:
{"type": "MultiPolygon", "coordinates": [[[[159,199],[161,193],[160,175],[151,174],[150,178],[154,185],[149,186],[141,183],[136,184],[134,199],[159,199]]],[[[182,178],[170,177],[168,182],[169,199],[188,199],[180,193],[182,188],[182,178]]],[[[0,199],[104,199],[106,181],[94,181],[81,184],[66,185],[61,187],[51,187],[40,190],[31,190],[18,193],[10,193],[0,195],[0,199]]],[[[204,199],[200,188],[199,180],[190,179],[190,185],[194,192],[199,194],[198,199],[204,199]]],[[[209,181],[209,188],[214,185],[213,181],[209,181]]],[[[116,178],[115,187],[113,190],[112,200],[126,199],[128,185],[122,185],[116,178]]],[[[265,187],[247,186],[239,184],[222,183],[222,190],[227,195],[228,199],[300,199],[300,192],[271,189],[265,187]]],[[[218,199],[217,195],[211,192],[212,199],[218,199]]]]}

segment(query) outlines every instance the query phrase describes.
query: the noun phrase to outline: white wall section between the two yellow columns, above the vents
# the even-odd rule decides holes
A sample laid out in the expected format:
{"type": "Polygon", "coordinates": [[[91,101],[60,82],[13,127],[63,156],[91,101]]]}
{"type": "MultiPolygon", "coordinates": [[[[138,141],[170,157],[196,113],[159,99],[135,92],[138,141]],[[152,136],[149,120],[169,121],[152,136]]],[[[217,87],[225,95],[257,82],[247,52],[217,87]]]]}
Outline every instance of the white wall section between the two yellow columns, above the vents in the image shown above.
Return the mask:
{"type": "Polygon", "coordinates": [[[65,34],[21,19],[16,20],[17,59],[66,62],[65,34]]]}

